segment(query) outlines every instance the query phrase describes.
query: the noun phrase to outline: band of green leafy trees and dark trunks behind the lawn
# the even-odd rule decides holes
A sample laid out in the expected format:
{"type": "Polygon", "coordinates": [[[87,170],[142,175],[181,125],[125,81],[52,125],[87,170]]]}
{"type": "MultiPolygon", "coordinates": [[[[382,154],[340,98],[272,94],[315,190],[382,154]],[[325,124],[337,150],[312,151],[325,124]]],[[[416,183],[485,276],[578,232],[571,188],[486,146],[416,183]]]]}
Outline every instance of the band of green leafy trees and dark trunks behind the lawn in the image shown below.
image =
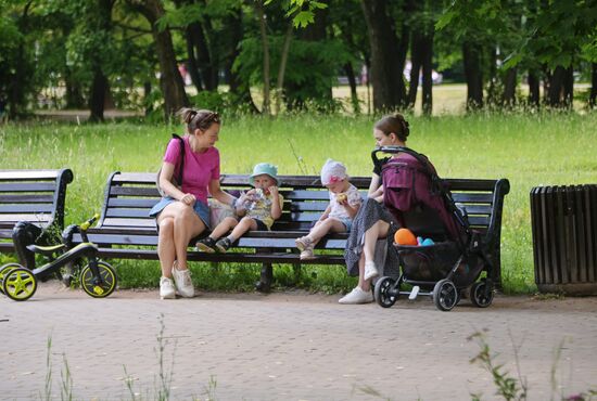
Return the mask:
{"type": "Polygon", "coordinates": [[[431,114],[432,68],[460,72],[471,112],[597,95],[595,0],[0,0],[0,37],[11,119],[43,105],[93,120],[113,106],[333,112],[339,76],[350,113],[366,79],[373,112],[431,114]]]}

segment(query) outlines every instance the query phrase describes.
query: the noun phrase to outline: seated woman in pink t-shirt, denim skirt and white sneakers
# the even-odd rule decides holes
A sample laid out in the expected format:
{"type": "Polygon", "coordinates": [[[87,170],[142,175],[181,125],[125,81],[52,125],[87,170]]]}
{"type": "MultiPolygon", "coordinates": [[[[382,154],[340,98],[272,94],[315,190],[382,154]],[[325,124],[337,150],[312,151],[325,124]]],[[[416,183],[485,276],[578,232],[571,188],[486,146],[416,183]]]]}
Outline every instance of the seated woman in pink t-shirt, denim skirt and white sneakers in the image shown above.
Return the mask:
{"type": "Polygon", "coordinates": [[[214,144],[218,140],[219,115],[205,109],[182,108],[179,114],[187,125],[182,184],[177,187],[172,178],[180,166],[180,141],[168,143],[160,187],[164,196],[150,211],[156,218],[158,240],[157,256],[162,267],[160,297],[193,297],[194,287],[187,266],[187,247],[191,238],[209,225],[207,194],[225,204],[233,204],[236,198],[219,186],[219,152],[214,144]],[[174,279],[174,282],[173,282],[174,279]]]}

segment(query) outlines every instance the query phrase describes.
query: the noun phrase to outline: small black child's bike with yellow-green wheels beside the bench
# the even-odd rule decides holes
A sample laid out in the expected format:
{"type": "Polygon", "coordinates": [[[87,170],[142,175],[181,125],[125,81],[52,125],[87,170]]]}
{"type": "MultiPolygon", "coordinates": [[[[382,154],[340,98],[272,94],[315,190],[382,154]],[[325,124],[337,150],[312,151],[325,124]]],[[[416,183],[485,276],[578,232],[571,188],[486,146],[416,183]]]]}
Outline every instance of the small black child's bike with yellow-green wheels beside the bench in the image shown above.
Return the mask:
{"type": "MultiPolygon", "coordinates": [[[[61,268],[78,266],[81,258],[87,264],[80,269],[80,285],[94,298],[104,298],[116,288],[116,272],[109,263],[98,259],[98,247],[89,242],[87,229],[99,218],[94,215],[81,224],[67,227],[62,233],[62,244],[53,246],[27,245],[27,249],[46,257],[47,262],[39,267],[23,267],[7,263],[0,267],[0,292],[14,300],[27,300],[37,289],[37,282],[51,273],[60,273],[61,268]],[[73,246],[73,235],[80,233],[82,243],[73,246]]],[[[35,264],[35,263],[34,263],[35,264]]],[[[66,280],[69,282],[69,280],[66,280]]]]}

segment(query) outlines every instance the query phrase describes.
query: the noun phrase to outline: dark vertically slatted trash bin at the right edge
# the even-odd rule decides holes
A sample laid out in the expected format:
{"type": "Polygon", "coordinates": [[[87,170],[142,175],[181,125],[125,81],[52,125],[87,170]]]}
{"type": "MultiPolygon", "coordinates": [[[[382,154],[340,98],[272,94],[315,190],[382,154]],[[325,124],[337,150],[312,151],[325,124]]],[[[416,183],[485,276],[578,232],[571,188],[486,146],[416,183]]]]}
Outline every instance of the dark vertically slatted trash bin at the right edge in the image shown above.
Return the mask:
{"type": "Polygon", "coordinates": [[[533,187],[531,223],[538,290],[597,295],[597,185],[533,187]]]}

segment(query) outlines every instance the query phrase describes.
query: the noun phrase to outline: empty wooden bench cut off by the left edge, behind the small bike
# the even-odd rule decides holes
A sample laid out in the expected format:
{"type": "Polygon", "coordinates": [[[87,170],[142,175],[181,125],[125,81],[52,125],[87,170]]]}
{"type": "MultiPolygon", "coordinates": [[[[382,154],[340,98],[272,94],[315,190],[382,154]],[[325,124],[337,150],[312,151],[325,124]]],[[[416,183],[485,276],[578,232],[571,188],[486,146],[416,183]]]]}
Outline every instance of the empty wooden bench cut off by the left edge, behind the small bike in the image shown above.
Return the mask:
{"type": "Polygon", "coordinates": [[[12,231],[27,221],[45,231],[64,229],[66,185],[73,171],[0,170],[0,253],[12,253],[12,231]]]}

